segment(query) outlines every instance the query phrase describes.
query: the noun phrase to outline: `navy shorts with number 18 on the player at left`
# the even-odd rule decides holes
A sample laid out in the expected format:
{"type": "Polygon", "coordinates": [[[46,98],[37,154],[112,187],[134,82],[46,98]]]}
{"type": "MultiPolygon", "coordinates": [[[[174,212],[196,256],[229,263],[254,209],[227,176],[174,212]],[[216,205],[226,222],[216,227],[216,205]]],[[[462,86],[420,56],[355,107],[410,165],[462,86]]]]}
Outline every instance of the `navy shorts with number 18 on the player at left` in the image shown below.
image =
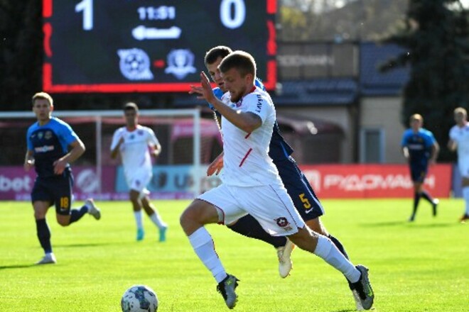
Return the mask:
{"type": "Polygon", "coordinates": [[[55,212],[67,216],[72,206],[73,175],[64,172],[55,177],[36,177],[31,201],[48,201],[49,207],[55,204],[55,212]]]}

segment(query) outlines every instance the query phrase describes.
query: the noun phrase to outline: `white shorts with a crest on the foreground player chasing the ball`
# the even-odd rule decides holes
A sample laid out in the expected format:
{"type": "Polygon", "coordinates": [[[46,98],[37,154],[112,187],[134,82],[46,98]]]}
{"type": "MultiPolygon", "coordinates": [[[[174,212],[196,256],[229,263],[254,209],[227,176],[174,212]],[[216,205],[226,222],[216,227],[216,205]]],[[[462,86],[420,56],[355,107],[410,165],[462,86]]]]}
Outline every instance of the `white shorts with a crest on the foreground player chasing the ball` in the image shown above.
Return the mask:
{"type": "Polygon", "coordinates": [[[272,236],[291,235],[305,226],[282,184],[250,187],[222,184],[198,199],[219,208],[223,223],[233,223],[249,213],[272,236]]]}

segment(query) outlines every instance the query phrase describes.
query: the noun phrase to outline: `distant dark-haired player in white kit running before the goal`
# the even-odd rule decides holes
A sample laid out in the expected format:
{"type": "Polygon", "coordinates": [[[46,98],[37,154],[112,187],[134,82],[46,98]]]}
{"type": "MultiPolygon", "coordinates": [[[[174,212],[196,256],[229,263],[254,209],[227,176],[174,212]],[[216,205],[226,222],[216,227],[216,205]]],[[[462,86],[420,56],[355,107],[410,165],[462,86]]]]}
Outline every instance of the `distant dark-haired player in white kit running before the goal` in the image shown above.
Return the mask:
{"type": "Polygon", "coordinates": [[[161,145],[153,130],[139,125],[139,108],[136,104],[128,103],[124,106],[124,117],[126,126],[117,129],[112,137],[111,157],[117,157],[119,152],[121,154],[124,176],[130,189],[129,198],[134,208],[136,240],[143,240],[145,235],[141,216],[143,207],[151,221],[158,227],[158,240],[164,242],[168,225],[151,204],[150,192],[146,189],[153,175],[151,156],[158,157],[161,145]]]}

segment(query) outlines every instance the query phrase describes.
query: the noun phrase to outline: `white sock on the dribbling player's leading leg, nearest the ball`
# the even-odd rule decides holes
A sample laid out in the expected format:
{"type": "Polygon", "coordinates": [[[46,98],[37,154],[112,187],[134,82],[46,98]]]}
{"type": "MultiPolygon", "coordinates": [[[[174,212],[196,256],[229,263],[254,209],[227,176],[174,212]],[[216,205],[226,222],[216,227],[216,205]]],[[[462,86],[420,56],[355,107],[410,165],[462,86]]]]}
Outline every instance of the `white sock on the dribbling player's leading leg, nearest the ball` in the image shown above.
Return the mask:
{"type": "Polygon", "coordinates": [[[199,259],[205,264],[205,267],[212,272],[213,277],[217,283],[222,282],[227,277],[227,272],[220,262],[220,258],[215,252],[215,245],[213,245],[212,236],[205,230],[204,227],[199,228],[194,233],[189,235],[189,242],[192,245],[195,253],[199,259]]]}

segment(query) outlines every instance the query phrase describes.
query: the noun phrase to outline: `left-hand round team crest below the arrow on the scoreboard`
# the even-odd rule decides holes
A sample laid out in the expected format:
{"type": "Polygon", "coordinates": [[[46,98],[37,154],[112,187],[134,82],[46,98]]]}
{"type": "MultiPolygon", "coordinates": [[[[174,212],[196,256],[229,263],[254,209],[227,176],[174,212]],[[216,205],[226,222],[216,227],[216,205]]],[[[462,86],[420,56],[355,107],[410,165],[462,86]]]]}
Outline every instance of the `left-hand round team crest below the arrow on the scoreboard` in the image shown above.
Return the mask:
{"type": "Polygon", "coordinates": [[[121,58],[119,68],[121,73],[129,80],[149,80],[153,79],[150,71],[150,57],[141,49],[121,49],[117,50],[121,58]]]}

